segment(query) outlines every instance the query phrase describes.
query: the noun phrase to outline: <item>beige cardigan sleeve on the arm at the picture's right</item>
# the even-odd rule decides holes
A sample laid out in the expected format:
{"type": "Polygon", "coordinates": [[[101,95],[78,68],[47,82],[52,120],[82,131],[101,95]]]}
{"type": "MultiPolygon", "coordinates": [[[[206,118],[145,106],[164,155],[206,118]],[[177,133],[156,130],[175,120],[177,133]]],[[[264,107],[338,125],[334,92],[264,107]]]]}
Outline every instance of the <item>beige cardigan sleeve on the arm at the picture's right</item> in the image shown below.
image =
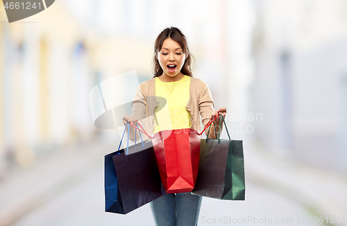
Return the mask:
{"type": "MultiPolygon", "coordinates": [[[[205,127],[208,121],[210,121],[211,116],[214,112],[214,102],[210,89],[203,80],[200,80],[199,84],[198,108],[201,116],[201,121],[203,122],[203,126],[205,127]]],[[[208,130],[205,130],[206,135],[207,131],[208,130]]]]}

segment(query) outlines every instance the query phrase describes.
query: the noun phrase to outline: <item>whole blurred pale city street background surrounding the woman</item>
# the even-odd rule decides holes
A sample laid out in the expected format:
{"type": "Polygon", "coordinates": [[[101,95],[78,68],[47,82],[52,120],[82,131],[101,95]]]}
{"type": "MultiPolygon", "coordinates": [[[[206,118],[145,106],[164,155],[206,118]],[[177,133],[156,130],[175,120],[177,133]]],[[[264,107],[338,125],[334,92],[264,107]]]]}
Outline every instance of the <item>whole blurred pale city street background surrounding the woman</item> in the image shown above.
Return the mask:
{"type": "Polygon", "coordinates": [[[347,0],[57,0],[10,24],[2,6],[0,226],[154,225],[149,205],[104,211],[121,134],[90,91],[152,78],[169,26],[244,144],[246,200],[203,198],[198,225],[347,225],[347,0]]]}

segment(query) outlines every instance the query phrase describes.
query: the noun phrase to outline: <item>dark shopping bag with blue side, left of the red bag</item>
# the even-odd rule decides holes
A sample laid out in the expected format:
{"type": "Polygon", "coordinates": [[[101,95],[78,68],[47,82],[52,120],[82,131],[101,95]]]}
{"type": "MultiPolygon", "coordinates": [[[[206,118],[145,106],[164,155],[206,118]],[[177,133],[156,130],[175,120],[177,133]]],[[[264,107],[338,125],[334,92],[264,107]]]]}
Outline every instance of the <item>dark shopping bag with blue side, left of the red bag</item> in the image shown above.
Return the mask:
{"type": "Polygon", "coordinates": [[[161,180],[151,141],[105,155],[105,211],[127,214],[160,196],[161,180]]]}

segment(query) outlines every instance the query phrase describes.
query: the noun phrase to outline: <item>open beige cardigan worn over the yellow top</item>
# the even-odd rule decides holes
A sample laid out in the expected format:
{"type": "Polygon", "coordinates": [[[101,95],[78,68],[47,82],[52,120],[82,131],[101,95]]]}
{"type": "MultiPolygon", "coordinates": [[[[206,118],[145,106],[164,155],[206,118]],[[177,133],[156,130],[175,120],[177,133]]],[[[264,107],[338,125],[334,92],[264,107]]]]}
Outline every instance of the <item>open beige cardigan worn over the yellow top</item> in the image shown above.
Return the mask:
{"type": "MultiPolygon", "coordinates": [[[[142,82],[135,92],[133,98],[133,116],[143,125],[144,130],[153,134],[154,109],[159,104],[155,99],[155,78],[142,82]]],[[[189,100],[185,108],[191,114],[192,129],[201,131],[200,116],[205,126],[214,112],[214,103],[208,85],[199,78],[190,78],[189,100]]],[[[207,134],[207,130],[205,130],[207,134]]],[[[142,134],[142,139],[149,139],[142,134]]],[[[139,139],[139,137],[137,137],[139,139]]]]}

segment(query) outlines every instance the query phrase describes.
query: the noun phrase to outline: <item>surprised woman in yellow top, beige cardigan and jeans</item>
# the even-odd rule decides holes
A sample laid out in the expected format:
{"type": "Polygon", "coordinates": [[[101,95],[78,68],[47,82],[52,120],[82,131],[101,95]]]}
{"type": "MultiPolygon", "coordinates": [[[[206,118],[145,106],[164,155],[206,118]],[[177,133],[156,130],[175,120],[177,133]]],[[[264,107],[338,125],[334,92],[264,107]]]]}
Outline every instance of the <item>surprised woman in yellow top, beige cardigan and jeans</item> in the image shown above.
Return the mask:
{"type": "MultiPolygon", "coordinates": [[[[154,76],[137,88],[133,113],[124,115],[124,124],[138,122],[149,134],[183,128],[201,131],[200,116],[203,125],[218,114],[225,117],[225,107],[214,111],[208,85],[192,77],[191,59],[185,35],[178,28],[165,28],[155,40],[154,76]]],[[[217,133],[222,129],[217,126],[218,120],[217,133]]],[[[129,132],[129,138],[134,140],[135,128],[129,132]]],[[[136,137],[139,138],[138,132],[136,137]]],[[[216,138],[213,124],[209,137],[216,138]]],[[[201,196],[169,193],[153,200],[150,206],[157,226],[197,225],[201,196]]]]}

